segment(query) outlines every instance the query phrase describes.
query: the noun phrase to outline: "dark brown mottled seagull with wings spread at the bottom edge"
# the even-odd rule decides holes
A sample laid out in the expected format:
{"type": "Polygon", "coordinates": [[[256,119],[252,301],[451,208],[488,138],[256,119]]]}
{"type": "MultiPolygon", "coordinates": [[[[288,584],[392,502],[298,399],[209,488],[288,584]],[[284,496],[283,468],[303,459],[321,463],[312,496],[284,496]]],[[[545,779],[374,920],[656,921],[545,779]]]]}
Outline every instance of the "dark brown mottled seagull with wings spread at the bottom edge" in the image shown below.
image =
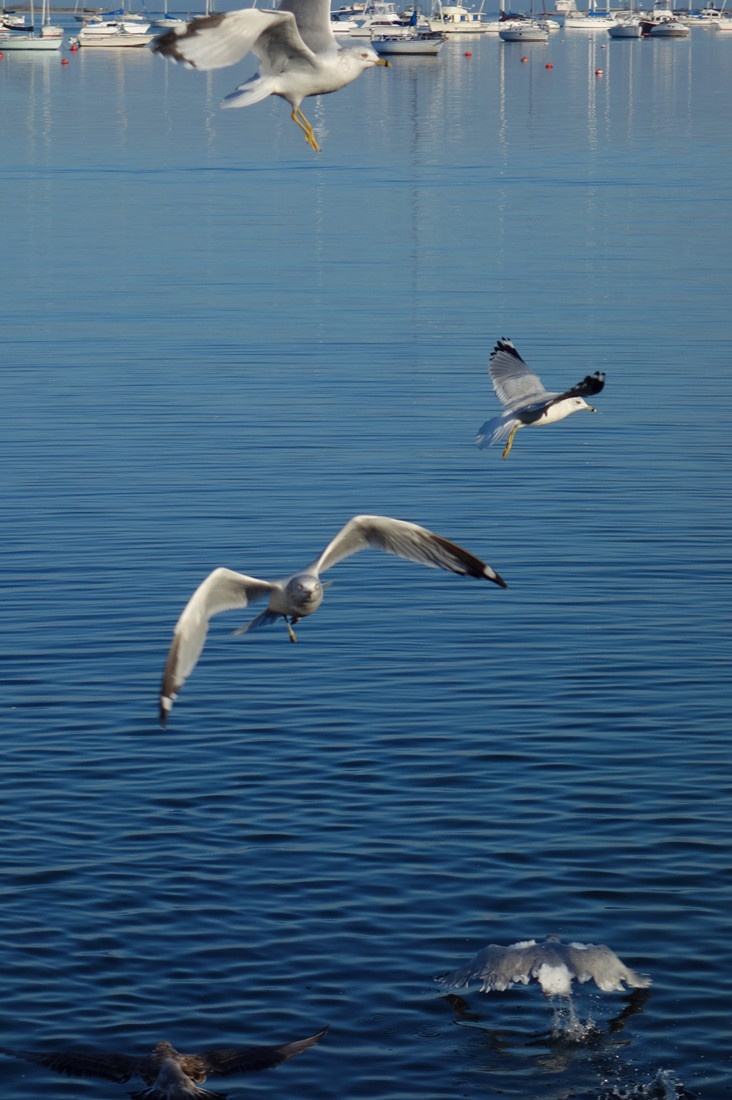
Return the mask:
{"type": "Polygon", "coordinates": [[[131,1077],[141,1077],[148,1086],[130,1092],[134,1100],[226,1100],[226,1092],[198,1088],[209,1074],[247,1074],[272,1069],[309,1046],[315,1046],[328,1031],[324,1027],[309,1038],[296,1040],[282,1046],[240,1046],[181,1054],[170,1043],[157,1043],[150,1054],[133,1058],[127,1054],[81,1053],[57,1050],[42,1054],[35,1050],[9,1050],[2,1054],[36,1066],[45,1066],[69,1077],[101,1077],[124,1085],[131,1077]]]}

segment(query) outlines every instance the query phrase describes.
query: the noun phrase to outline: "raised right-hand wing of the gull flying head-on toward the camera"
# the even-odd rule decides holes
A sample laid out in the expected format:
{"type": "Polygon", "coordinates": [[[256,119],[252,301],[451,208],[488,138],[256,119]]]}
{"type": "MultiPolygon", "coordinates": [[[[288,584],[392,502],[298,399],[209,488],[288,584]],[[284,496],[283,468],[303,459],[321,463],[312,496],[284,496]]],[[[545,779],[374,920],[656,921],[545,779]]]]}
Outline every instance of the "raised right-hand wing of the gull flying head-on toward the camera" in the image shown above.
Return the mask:
{"type": "Polygon", "coordinates": [[[384,550],[386,553],[406,558],[407,561],[433,569],[445,569],[463,576],[483,578],[507,587],[503,578],[485,562],[463,550],[456,542],[444,539],[416,524],[389,516],[354,516],[328,543],[319,558],[309,566],[316,574],[337,565],[343,558],[359,550],[384,550]]]}

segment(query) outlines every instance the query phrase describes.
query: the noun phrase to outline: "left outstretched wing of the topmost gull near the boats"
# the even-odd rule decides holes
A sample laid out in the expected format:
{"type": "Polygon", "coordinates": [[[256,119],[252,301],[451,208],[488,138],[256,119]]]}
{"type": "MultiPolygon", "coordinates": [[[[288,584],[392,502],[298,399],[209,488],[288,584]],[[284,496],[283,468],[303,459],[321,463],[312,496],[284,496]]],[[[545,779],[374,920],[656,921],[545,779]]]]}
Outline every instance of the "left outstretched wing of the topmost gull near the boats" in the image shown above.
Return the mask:
{"type": "Polygon", "coordinates": [[[312,56],[297,32],[294,15],[261,8],[195,19],[154,38],[151,50],[205,72],[236,65],[250,51],[270,70],[272,65],[278,70],[277,64],[282,67],[293,54],[312,56]]]}

